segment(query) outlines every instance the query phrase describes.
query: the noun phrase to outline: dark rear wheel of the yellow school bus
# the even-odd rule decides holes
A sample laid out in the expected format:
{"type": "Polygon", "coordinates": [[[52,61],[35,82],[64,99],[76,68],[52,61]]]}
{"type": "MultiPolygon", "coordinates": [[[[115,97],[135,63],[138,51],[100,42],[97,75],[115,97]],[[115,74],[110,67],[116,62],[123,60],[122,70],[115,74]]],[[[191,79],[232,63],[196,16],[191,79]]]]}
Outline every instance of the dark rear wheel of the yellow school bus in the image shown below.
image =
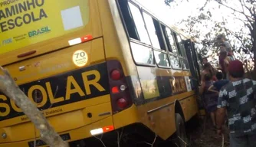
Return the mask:
{"type": "Polygon", "coordinates": [[[188,138],[185,132],[185,123],[179,113],[175,114],[176,117],[176,142],[179,147],[189,146],[188,138]]]}

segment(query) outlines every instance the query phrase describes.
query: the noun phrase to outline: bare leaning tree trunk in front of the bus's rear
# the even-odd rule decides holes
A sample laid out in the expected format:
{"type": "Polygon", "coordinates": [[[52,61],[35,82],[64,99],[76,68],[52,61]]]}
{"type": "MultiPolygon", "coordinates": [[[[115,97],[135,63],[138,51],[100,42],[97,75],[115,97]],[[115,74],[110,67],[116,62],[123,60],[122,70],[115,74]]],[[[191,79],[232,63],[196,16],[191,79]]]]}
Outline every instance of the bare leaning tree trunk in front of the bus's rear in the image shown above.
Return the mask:
{"type": "Polygon", "coordinates": [[[0,68],[4,73],[0,75],[0,90],[2,93],[5,93],[9,99],[14,100],[15,104],[31,119],[34,126],[39,129],[41,139],[51,147],[68,147],[68,143],[64,142],[61,136],[54,131],[54,128],[48,123],[43,113],[28,99],[28,96],[19,89],[15,80],[13,80],[10,73],[8,73],[8,70],[2,67],[0,68]]]}

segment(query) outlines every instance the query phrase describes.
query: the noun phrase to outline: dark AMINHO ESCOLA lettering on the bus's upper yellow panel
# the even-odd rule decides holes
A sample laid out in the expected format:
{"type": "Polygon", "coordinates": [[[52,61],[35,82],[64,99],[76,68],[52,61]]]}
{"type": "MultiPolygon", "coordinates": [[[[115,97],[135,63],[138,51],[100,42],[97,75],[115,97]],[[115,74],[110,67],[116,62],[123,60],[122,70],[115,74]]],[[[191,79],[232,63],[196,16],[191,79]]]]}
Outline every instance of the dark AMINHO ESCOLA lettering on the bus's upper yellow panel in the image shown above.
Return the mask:
{"type": "Polygon", "coordinates": [[[37,12],[31,11],[25,13],[22,16],[17,16],[13,19],[10,18],[22,12],[29,11],[33,8],[41,7],[43,5],[44,0],[28,0],[26,2],[11,5],[10,7],[7,7],[5,9],[0,9],[0,32],[12,30],[16,27],[21,27],[24,24],[30,24],[34,21],[40,21],[42,18],[48,18],[48,15],[45,13],[43,8],[41,8],[37,12]]]}

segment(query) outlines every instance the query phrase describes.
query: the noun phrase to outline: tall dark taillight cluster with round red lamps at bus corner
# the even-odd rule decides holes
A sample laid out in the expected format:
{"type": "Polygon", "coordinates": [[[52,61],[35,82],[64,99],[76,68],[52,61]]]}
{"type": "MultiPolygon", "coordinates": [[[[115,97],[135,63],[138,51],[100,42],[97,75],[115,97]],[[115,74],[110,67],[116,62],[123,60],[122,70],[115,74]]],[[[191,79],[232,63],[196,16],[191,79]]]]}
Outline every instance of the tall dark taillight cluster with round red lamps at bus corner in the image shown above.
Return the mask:
{"type": "Polygon", "coordinates": [[[126,77],[123,74],[123,68],[119,61],[107,61],[107,70],[109,74],[110,96],[113,113],[119,113],[123,109],[132,106],[133,101],[130,97],[127,87],[126,77]]]}

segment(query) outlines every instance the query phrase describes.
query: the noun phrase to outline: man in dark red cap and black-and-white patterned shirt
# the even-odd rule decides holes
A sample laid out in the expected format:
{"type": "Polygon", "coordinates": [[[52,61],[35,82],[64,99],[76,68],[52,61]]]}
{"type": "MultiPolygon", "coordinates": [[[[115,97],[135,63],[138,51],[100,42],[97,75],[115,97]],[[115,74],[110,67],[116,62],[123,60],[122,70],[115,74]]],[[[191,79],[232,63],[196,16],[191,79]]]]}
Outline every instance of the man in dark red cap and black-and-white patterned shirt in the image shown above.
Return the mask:
{"type": "Polygon", "coordinates": [[[217,133],[222,133],[225,112],[231,147],[256,146],[256,81],[244,78],[245,70],[240,60],[228,67],[231,80],[219,92],[216,114],[217,133]]]}

